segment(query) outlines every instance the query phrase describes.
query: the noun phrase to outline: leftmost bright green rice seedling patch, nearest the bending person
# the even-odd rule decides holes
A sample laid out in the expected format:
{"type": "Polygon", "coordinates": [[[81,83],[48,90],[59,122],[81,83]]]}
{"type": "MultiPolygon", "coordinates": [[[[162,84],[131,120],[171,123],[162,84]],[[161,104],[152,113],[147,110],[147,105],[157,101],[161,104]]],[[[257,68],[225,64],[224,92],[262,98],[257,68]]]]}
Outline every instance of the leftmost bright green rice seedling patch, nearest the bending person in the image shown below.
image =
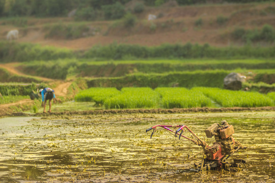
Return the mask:
{"type": "Polygon", "coordinates": [[[102,105],[107,98],[111,98],[120,94],[120,91],[115,87],[97,87],[82,90],[75,97],[76,102],[96,102],[102,105]]]}

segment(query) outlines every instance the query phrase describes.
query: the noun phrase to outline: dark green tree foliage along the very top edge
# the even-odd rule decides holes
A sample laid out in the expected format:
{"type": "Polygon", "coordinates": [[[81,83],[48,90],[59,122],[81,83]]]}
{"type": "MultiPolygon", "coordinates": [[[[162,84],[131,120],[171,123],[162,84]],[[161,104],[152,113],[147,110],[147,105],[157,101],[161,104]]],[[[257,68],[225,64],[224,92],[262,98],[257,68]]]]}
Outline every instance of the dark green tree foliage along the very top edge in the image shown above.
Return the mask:
{"type": "MultiPolygon", "coordinates": [[[[66,16],[74,9],[93,8],[104,11],[107,19],[124,16],[124,5],[130,0],[0,0],[0,16],[66,16]]],[[[206,0],[176,0],[182,5],[206,4],[206,0]]],[[[221,3],[268,2],[271,0],[222,0],[221,3]]],[[[160,6],[168,0],[144,0],[147,6],[160,6]]],[[[142,4],[135,7],[135,13],[142,12],[142,4]]],[[[87,10],[87,9],[86,9],[87,10]]],[[[84,11],[84,10],[81,10],[84,11]]],[[[87,14],[87,12],[86,12],[87,14]]]]}

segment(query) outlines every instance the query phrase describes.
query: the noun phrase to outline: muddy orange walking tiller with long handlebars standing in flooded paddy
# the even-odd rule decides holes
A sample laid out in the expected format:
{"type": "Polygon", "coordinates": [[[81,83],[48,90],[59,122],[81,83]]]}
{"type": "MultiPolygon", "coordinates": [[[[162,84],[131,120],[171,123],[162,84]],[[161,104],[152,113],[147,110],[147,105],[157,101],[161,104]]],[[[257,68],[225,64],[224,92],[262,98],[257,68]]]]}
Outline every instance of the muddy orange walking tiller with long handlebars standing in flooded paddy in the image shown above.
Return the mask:
{"type": "MultiPolygon", "coordinates": [[[[154,127],[147,129],[146,132],[153,130],[150,137],[152,138],[153,134],[160,129],[164,129],[172,134],[175,134],[176,137],[178,135],[179,139],[183,137],[199,146],[202,146],[204,158],[202,159],[201,163],[195,164],[196,169],[230,170],[230,168],[240,167],[240,165],[244,165],[244,167],[246,168],[245,161],[241,159],[234,159],[233,163],[226,162],[226,160],[229,157],[231,157],[234,153],[236,153],[236,151],[238,151],[239,149],[245,149],[246,147],[243,147],[240,144],[240,142],[233,138],[232,135],[234,134],[234,128],[232,125],[228,125],[227,121],[225,120],[222,121],[221,125],[213,124],[205,130],[207,138],[211,138],[212,136],[215,137],[215,141],[212,146],[209,146],[205,141],[200,139],[193,131],[191,131],[185,125],[156,125],[154,127]],[[178,129],[174,131],[170,128],[178,129]],[[191,138],[182,135],[185,129],[192,134],[191,138]]],[[[201,151],[199,153],[201,153],[201,151]]],[[[188,159],[194,157],[195,155],[188,157],[188,159]]]]}

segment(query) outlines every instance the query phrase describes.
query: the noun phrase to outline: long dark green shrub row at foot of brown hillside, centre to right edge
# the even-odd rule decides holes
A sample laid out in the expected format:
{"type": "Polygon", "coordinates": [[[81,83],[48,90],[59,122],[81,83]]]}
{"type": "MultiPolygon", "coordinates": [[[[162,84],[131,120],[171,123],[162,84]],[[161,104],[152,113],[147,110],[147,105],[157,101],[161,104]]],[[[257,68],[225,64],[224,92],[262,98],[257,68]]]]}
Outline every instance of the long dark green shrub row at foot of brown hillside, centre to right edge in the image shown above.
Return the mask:
{"type": "Polygon", "coordinates": [[[155,47],[140,45],[111,44],[95,46],[86,51],[85,58],[122,59],[125,55],[136,58],[251,58],[274,57],[275,47],[210,47],[205,45],[163,44],[155,47]]]}

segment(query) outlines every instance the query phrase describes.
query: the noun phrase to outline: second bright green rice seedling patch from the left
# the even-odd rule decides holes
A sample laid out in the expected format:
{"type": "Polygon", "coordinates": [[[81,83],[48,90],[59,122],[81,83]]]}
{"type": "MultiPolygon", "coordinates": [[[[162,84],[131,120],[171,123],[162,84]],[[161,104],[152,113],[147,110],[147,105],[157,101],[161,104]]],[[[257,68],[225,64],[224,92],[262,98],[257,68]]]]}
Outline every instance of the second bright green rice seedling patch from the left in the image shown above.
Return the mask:
{"type": "Polygon", "coordinates": [[[104,106],[107,109],[123,108],[156,108],[158,106],[159,95],[149,87],[125,87],[121,89],[121,94],[106,99],[104,106]]]}

